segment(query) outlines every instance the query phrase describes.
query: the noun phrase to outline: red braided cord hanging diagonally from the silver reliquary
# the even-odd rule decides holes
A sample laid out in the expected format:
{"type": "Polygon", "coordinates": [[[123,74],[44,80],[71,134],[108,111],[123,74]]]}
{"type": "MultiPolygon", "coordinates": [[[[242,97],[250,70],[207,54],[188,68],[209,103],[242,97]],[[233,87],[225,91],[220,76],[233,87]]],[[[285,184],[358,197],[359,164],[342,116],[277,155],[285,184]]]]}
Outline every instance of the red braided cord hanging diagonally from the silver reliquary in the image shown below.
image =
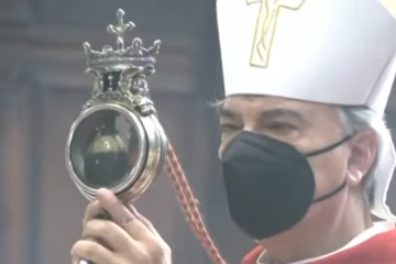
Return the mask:
{"type": "Polygon", "coordinates": [[[182,205],[185,216],[187,217],[187,221],[190,223],[195,235],[201,242],[208,256],[215,264],[227,264],[205,227],[201,213],[199,212],[197,206],[198,200],[195,198],[194,193],[188,185],[180,163],[178,162],[176,153],[170,144],[168,145],[166,168],[175,188],[177,199],[182,205]]]}

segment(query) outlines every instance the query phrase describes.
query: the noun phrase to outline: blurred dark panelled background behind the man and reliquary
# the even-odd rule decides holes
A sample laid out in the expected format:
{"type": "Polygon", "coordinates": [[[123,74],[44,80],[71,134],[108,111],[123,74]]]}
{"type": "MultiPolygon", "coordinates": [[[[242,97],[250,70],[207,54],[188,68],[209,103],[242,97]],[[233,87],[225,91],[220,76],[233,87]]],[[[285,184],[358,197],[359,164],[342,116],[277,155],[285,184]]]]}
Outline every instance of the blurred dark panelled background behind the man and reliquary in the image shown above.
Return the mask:
{"type": "MultiPolygon", "coordinates": [[[[118,8],[136,24],[132,36],[146,45],[163,42],[148,82],[161,122],[213,239],[229,263],[239,263],[253,243],[228,217],[217,160],[219,132],[209,107],[222,86],[215,0],[0,1],[0,263],[70,263],[87,205],[64,162],[66,135],[92,87],[82,42],[95,50],[114,44],[106,26],[117,22],[118,8]]],[[[396,209],[395,183],[392,189],[396,209]]],[[[170,244],[175,264],[210,263],[165,174],[138,209],[170,244]]]]}

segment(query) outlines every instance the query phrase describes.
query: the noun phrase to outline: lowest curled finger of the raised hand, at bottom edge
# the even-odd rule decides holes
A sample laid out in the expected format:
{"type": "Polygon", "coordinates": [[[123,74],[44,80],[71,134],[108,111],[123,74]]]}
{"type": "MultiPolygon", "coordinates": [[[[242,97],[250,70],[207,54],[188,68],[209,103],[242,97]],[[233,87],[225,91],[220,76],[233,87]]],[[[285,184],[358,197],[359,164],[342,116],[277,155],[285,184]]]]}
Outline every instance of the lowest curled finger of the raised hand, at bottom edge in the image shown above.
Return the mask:
{"type": "Polygon", "coordinates": [[[72,249],[72,255],[77,260],[85,260],[95,264],[114,263],[117,255],[102,246],[101,244],[89,241],[79,240],[72,249]]]}

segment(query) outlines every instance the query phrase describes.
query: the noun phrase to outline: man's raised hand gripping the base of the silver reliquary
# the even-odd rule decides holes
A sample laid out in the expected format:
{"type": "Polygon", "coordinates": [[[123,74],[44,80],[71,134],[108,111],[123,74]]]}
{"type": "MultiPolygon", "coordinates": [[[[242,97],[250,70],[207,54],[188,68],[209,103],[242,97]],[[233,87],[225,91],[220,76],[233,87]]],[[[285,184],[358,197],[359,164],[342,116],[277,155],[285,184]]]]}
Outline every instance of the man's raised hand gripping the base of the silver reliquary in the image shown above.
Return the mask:
{"type": "Polygon", "coordinates": [[[170,249],[153,224],[110,190],[98,190],[84,217],[82,239],[72,249],[74,263],[170,264],[170,249]],[[103,211],[112,221],[96,219],[103,211]]]}

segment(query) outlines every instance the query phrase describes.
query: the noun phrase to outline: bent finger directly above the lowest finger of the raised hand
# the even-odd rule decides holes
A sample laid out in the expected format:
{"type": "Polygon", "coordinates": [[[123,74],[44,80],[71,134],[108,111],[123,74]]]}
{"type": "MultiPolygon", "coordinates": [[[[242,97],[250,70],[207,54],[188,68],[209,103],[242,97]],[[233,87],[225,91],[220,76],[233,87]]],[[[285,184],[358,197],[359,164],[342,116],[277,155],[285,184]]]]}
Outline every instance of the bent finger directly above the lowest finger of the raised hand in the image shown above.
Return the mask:
{"type": "Polygon", "coordinates": [[[95,219],[84,228],[82,238],[100,241],[112,251],[131,251],[135,248],[134,240],[120,226],[112,221],[95,219]]]}

